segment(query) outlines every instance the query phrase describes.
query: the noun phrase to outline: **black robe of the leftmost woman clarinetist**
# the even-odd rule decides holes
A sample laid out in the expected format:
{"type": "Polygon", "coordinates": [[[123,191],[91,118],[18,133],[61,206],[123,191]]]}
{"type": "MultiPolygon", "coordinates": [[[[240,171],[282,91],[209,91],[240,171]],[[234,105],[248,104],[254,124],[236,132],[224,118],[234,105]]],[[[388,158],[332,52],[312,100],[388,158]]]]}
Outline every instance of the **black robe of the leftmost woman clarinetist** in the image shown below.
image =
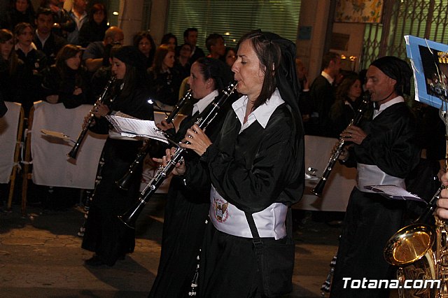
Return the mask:
{"type": "MultiPolygon", "coordinates": [[[[144,120],[153,120],[153,108],[148,104],[148,92],[138,88],[129,96],[118,97],[109,106],[111,111],[121,111],[144,120]]],[[[108,122],[97,119],[92,131],[107,134],[108,122]]],[[[108,138],[99,162],[99,176],[90,203],[82,248],[94,252],[102,261],[113,266],[135,246],[135,231],[125,227],[117,216],[127,211],[138,197],[140,180],[134,179],[129,190],[122,190],[116,181],[125,175],[134,161],[141,141],[108,138]]]]}

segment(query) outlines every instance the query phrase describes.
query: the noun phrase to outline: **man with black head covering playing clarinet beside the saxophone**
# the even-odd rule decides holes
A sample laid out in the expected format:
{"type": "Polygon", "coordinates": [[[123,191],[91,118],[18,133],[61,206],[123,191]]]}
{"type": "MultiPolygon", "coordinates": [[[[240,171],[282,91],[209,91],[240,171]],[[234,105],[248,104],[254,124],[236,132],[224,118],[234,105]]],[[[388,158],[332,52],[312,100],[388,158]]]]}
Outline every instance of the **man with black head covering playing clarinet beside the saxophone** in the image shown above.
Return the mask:
{"type": "Polygon", "coordinates": [[[367,91],[379,109],[367,126],[347,127],[341,137],[354,143],[339,159],[358,170],[351,192],[332,281],[330,297],[388,297],[388,289],[344,288],[343,278],[390,280],[393,268],[384,260],[388,239],[402,227],[405,201],[386,199],[367,185],[405,188],[405,178],[419,163],[416,120],[405,104],[412,70],[396,57],[382,57],[367,70],[367,91]]]}

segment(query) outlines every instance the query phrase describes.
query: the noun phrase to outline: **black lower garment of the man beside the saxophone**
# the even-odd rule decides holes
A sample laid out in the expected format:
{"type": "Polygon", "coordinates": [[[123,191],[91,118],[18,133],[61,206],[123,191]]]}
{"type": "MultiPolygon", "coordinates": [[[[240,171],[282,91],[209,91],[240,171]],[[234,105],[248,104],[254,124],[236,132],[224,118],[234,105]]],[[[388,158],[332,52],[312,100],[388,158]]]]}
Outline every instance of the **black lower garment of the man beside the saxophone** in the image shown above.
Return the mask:
{"type": "Polygon", "coordinates": [[[370,280],[396,279],[395,270],[384,260],[383,251],[388,239],[402,226],[404,211],[405,201],[386,199],[353,188],[342,227],[330,297],[389,297],[388,289],[352,289],[350,285],[351,281],[363,281],[363,278],[367,279],[367,285],[370,280]]]}

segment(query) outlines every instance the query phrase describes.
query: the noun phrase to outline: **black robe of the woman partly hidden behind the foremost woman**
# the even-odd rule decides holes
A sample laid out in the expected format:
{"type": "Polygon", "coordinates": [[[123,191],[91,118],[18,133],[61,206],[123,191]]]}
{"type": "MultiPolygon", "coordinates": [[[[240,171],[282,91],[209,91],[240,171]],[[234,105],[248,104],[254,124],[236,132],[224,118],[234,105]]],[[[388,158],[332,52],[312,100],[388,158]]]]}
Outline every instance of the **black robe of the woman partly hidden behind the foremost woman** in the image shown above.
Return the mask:
{"type": "MultiPolygon", "coordinates": [[[[226,101],[205,130],[212,142],[216,140],[223,126],[232,101],[232,98],[226,101]]],[[[197,118],[206,115],[209,107],[211,104],[201,114],[195,113],[184,119],[174,139],[181,141],[187,129],[193,126],[197,118]]],[[[199,158],[195,152],[185,155],[185,159],[190,162],[197,162],[199,158]]],[[[165,206],[158,274],[149,297],[188,297],[197,266],[196,257],[200,254],[204,239],[205,220],[209,215],[209,197],[210,185],[192,189],[183,183],[183,177],[173,176],[165,206]]]]}

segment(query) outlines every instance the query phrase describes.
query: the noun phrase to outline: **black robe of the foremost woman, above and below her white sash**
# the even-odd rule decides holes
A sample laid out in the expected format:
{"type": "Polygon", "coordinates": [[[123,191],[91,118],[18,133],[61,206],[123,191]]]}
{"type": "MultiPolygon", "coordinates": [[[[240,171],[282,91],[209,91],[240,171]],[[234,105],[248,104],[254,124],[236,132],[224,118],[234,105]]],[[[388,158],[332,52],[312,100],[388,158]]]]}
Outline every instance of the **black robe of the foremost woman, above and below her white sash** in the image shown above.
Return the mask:
{"type": "MultiPolygon", "coordinates": [[[[186,183],[211,183],[226,201],[249,213],[274,202],[295,204],[304,189],[303,132],[295,117],[300,115],[281,104],[264,129],[255,121],[239,133],[241,122],[230,111],[200,163],[187,162],[186,183]]],[[[252,239],[219,232],[210,223],[200,260],[200,297],[260,295],[258,277],[252,239]]]]}

